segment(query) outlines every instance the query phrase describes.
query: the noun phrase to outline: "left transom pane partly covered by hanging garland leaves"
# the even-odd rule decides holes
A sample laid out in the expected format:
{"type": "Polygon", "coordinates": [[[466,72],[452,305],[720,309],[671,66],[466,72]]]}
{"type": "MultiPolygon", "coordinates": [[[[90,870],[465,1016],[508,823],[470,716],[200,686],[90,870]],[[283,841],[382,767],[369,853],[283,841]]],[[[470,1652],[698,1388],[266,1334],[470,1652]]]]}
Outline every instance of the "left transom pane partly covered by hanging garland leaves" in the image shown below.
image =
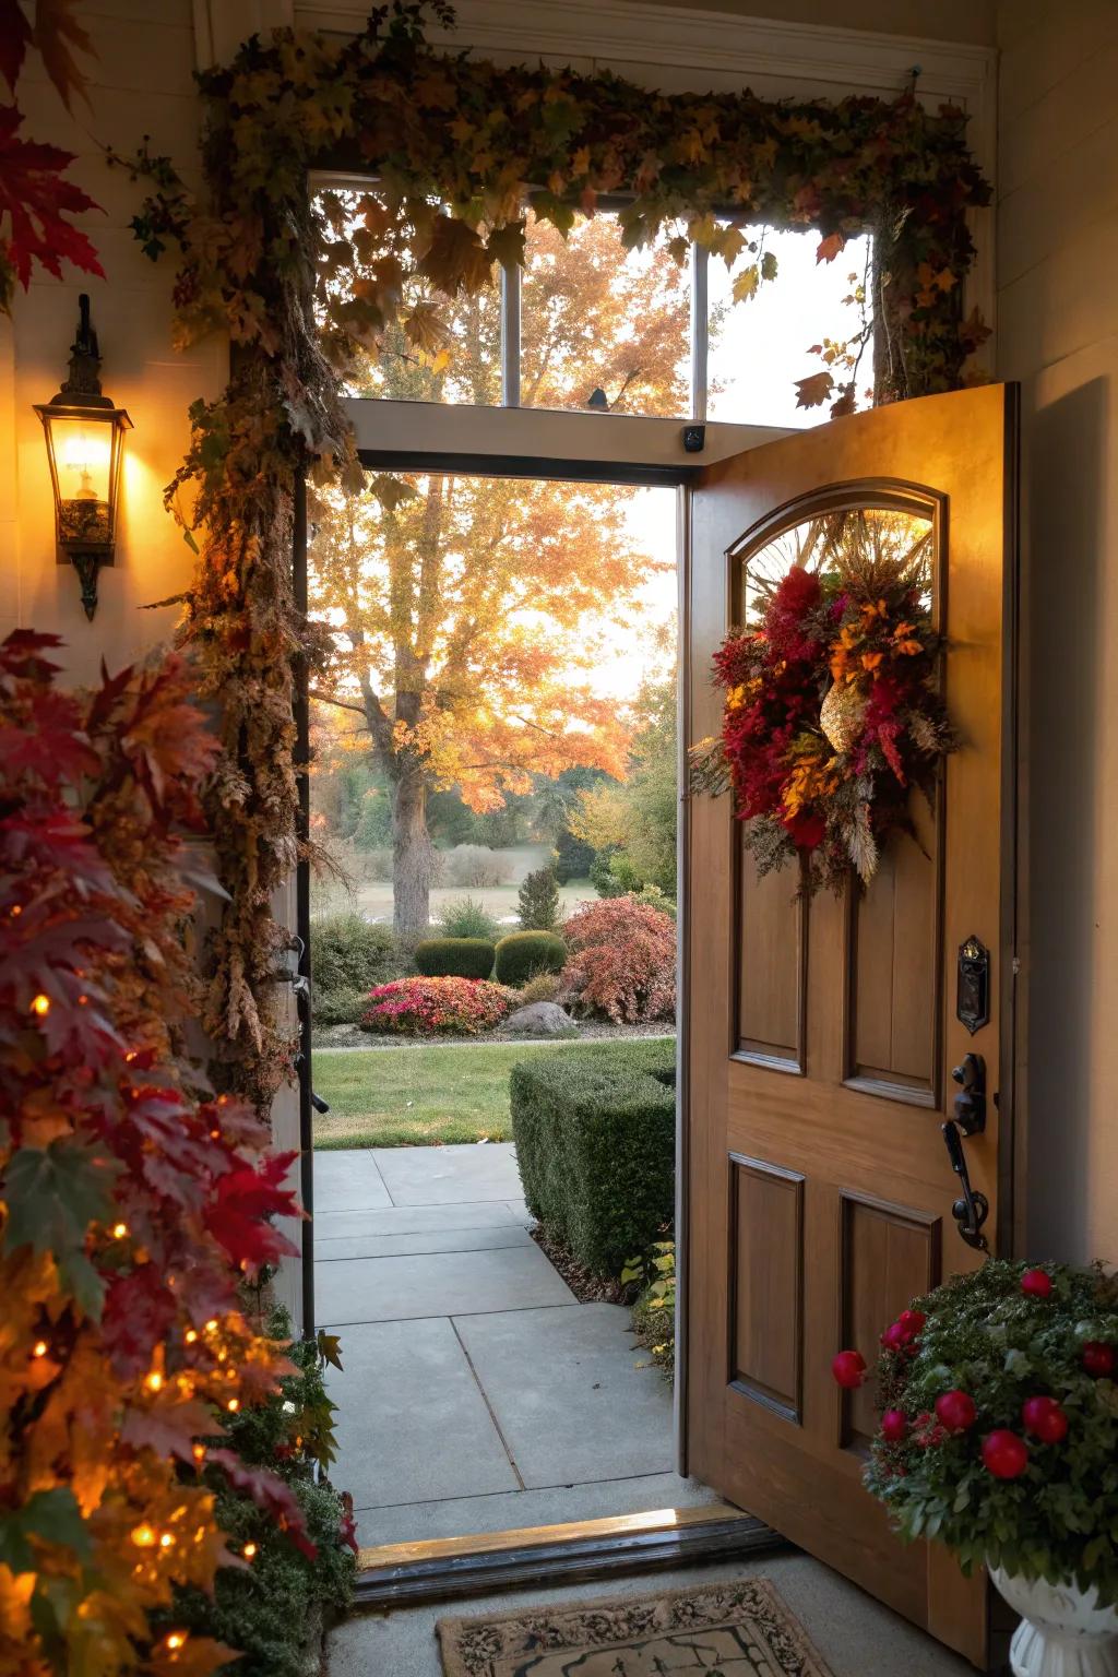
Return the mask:
{"type": "MultiPolygon", "coordinates": [[[[332,307],[349,309],[350,327],[360,329],[365,325],[362,292],[375,283],[372,265],[362,262],[362,247],[370,260],[384,255],[382,206],[375,193],[347,190],[320,193],[315,208],[323,225],[320,292],[325,288],[332,307]]],[[[426,280],[409,278],[399,317],[384,327],[369,324],[367,344],[360,367],[345,381],[347,396],[479,406],[501,401],[501,295],[496,283],[474,297],[451,300],[426,280]]]]}

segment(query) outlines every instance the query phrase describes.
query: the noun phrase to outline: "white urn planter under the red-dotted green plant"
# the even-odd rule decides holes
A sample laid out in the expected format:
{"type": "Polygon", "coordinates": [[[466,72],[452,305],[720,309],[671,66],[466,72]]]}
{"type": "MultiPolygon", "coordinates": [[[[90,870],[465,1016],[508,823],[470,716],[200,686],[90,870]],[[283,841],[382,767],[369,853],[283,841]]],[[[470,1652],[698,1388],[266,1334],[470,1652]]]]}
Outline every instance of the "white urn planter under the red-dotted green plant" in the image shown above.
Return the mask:
{"type": "Polygon", "coordinates": [[[991,1578],[1021,1613],[1009,1647],[1014,1677],[1118,1677],[1118,1610],[1100,1607],[1095,1588],[1014,1578],[1001,1566],[991,1578]]]}

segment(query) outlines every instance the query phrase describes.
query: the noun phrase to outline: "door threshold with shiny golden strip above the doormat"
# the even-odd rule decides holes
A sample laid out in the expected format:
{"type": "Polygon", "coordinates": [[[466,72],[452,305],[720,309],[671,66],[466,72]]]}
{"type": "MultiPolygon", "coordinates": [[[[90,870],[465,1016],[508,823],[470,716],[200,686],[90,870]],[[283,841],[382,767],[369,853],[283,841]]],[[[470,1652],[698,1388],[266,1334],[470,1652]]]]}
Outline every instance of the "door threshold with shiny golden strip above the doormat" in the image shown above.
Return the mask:
{"type": "Polygon", "coordinates": [[[608,1573],[682,1566],[788,1548],[764,1521],[729,1503],[645,1514],[518,1526],[463,1538],[386,1543],[357,1558],[354,1605],[417,1607],[494,1590],[585,1583],[608,1573]]]}

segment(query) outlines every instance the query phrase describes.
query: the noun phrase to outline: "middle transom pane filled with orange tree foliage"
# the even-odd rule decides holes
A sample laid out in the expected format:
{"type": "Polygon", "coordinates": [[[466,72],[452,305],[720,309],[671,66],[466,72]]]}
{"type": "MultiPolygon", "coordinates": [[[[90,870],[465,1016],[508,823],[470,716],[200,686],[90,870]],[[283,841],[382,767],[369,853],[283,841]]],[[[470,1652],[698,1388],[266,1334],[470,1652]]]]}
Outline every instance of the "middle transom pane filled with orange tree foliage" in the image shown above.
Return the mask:
{"type": "Polygon", "coordinates": [[[567,238],[530,218],[526,243],[521,404],[686,416],[691,270],[667,238],[625,250],[617,215],[600,213],[567,238]]]}

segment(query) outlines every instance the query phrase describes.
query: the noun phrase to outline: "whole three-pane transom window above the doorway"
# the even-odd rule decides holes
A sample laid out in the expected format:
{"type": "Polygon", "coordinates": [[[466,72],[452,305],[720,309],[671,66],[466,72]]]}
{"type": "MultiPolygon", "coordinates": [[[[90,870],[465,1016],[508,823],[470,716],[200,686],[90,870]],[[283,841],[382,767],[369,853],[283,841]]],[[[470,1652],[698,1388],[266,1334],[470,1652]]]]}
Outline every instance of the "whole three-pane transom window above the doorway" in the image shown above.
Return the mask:
{"type": "MultiPolygon", "coordinates": [[[[329,188],[317,206],[354,226],[369,198],[329,188]]],[[[530,213],[525,267],[453,302],[409,280],[407,330],[380,334],[347,394],[766,426],[826,419],[826,406],[796,404],[795,381],[823,364],[811,345],[860,329],[870,236],[826,263],[810,228],[741,226],[727,265],[667,233],[627,248],[622,211],[607,205],[567,238],[530,213]]],[[[330,280],[355,293],[360,282],[360,267],[330,280]]],[[[872,382],[867,350],[858,386],[872,382]]]]}

